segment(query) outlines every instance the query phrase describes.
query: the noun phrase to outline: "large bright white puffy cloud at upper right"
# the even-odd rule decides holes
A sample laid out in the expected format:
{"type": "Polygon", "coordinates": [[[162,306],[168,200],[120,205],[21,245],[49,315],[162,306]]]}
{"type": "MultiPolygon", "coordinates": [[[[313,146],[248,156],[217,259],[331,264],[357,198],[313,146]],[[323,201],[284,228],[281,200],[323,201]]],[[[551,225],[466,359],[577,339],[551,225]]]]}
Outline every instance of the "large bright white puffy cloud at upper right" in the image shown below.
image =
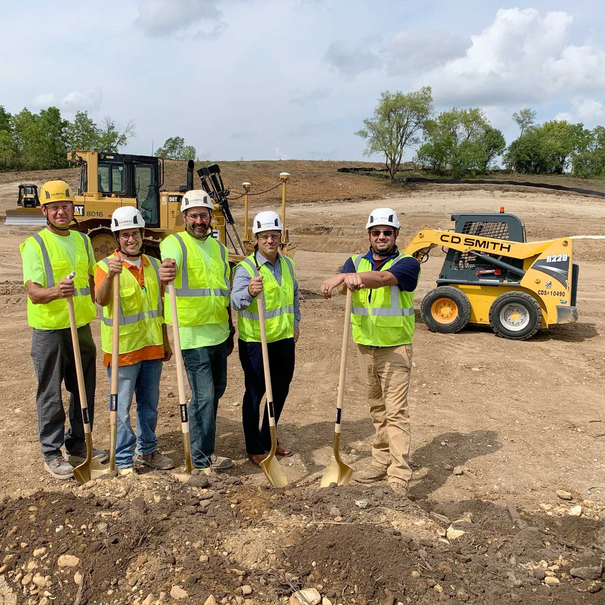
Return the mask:
{"type": "Polygon", "coordinates": [[[471,36],[465,56],[422,75],[438,103],[531,103],[557,93],[603,90],[605,52],[571,44],[571,15],[528,8],[500,9],[494,22],[471,36]]]}

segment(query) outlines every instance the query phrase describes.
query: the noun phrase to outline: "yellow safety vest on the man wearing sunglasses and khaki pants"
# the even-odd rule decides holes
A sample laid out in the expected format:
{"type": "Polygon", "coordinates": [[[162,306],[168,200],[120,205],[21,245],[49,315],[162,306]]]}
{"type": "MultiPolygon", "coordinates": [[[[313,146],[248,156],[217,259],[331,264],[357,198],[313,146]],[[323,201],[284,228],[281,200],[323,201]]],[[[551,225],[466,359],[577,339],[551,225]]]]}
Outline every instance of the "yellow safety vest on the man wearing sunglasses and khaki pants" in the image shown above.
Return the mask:
{"type": "MultiPolygon", "coordinates": [[[[400,253],[384,263],[380,270],[388,271],[389,267],[405,257],[410,255],[400,253]]],[[[355,255],[352,260],[357,273],[372,270],[370,261],[364,255],[355,255]]],[[[414,293],[404,292],[398,286],[355,290],[351,323],[353,340],[358,344],[374,347],[410,344],[414,335],[414,293]]]]}

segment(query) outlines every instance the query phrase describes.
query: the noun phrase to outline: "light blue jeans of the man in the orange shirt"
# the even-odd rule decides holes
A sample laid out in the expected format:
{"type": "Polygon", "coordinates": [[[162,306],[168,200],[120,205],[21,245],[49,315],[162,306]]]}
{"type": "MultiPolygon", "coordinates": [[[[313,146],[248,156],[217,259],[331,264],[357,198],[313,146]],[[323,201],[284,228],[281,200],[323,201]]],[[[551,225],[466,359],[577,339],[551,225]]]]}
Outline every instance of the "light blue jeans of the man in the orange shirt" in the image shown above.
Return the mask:
{"type": "MultiPolygon", "coordinates": [[[[145,359],[137,364],[120,365],[117,390],[116,466],[128,468],[137,454],[146,456],[157,449],[157,405],[160,401],[162,359],[145,359]],[[130,425],[132,395],[137,394],[137,434],[130,425]]],[[[107,368],[111,386],[111,366],[107,368]]]]}

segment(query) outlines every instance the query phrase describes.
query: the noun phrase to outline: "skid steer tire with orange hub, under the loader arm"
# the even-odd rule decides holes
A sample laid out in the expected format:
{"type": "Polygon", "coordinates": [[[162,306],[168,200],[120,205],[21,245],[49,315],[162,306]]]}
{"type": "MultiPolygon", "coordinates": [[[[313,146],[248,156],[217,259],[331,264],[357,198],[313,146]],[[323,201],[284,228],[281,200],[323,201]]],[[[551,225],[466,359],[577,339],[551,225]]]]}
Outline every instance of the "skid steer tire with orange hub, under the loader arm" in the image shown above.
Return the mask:
{"type": "Polygon", "coordinates": [[[468,324],[471,303],[459,289],[439,286],[422,299],[420,316],[431,332],[454,334],[468,324]]]}

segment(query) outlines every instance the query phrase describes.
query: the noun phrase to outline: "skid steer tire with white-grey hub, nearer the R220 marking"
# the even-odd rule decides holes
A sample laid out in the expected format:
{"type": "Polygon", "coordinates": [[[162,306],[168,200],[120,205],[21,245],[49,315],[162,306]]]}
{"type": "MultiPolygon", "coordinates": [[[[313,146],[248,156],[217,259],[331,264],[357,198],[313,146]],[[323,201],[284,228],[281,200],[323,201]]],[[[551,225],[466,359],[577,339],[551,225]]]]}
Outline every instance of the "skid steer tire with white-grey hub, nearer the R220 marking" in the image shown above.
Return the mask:
{"type": "Polygon", "coordinates": [[[502,338],[526,340],[534,336],[542,321],[538,301],[526,292],[506,292],[489,307],[489,325],[502,338]]]}

